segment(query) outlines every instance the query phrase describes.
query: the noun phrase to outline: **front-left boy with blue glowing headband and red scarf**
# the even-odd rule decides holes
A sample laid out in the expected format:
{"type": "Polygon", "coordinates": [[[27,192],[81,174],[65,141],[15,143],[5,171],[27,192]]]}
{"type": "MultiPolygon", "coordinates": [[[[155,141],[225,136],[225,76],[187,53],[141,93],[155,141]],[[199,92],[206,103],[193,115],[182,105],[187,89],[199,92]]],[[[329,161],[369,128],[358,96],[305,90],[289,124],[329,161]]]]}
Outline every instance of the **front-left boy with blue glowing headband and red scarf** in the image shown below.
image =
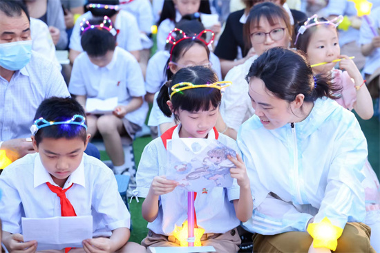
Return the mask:
{"type": "Polygon", "coordinates": [[[121,247],[121,252],[145,252],[127,243],[131,216],[112,171],[84,154],[90,138],[84,115],[71,98],[44,100],[30,128],[38,153],[13,162],[0,175],[1,191],[6,193],[0,200],[3,243],[10,252],[37,249],[36,241],[23,241],[21,217],[88,215],[93,216],[94,238],[70,252],[115,252],[121,247]]]}

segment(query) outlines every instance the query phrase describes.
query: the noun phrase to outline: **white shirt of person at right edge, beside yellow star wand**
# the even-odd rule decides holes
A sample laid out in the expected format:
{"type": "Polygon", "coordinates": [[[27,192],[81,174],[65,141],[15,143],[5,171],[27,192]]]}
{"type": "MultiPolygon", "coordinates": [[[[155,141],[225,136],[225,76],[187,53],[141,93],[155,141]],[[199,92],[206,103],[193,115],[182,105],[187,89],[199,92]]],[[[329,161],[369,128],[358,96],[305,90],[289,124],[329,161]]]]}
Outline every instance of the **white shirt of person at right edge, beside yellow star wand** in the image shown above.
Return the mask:
{"type": "MultiPolygon", "coordinates": [[[[374,30],[380,32],[380,7],[372,10],[369,18],[374,30]]],[[[374,35],[370,25],[367,21],[363,20],[360,27],[359,44],[369,44],[373,37],[374,35]]],[[[377,68],[380,68],[380,48],[375,48],[372,53],[366,57],[363,73],[372,75],[377,68]]]]}

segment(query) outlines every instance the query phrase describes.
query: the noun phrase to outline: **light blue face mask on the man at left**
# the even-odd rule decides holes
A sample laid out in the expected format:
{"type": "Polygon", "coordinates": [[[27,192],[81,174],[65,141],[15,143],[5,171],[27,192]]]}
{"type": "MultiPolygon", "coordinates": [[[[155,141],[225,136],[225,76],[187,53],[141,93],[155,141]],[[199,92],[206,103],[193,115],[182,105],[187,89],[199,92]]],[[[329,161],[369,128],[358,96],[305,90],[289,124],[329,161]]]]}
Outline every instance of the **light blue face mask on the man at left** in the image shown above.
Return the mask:
{"type": "Polygon", "coordinates": [[[16,41],[0,44],[0,66],[9,71],[19,71],[32,57],[32,41],[16,41]]]}

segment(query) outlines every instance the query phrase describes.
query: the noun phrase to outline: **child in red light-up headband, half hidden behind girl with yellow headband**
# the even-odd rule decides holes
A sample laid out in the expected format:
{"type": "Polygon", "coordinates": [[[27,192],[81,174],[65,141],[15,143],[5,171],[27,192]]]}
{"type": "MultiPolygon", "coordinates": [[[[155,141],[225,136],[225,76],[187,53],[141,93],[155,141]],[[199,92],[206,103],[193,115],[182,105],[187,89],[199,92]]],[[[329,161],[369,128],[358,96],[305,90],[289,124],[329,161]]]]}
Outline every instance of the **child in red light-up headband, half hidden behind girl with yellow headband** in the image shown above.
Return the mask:
{"type": "Polygon", "coordinates": [[[147,101],[152,100],[151,97],[147,96],[151,96],[154,93],[155,95],[148,126],[158,127],[158,136],[175,125],[174,118],[165,116],[156,101],[162,84],[170,80],[181,68],[189,66],[207,66],[212,68],[216,73],[220,73],[219,59],[209,51],[208,45],[212,41],[213,32],[211,30],[204,30],[202,23],[197,20],[182,20],[178,22],[178,27],[169,34],[167,39],[170,53],[168,51],[159,51],[156,53],[157,56],[154,55],[149,61],[147,68],[149,75],[146,75],[147,79],[145,82],[148,95],[146,95],[145,99],[147,101]],[[156,62],[156,57],[157,59],[160,58],[158,59],[160,63],[156,62]],[[163,59],[164,62],[162,62],[163,59]],[[152,64],[153,60],[155,67],[152,64]],[[158,73],[158,71],[162,71],[162,73],[158,73]],[[157,78],[153,78],[154,75],[151,76],[151,72],[158,73],[158,75],[155,75],[157,78]],[[160,84],[158,84],[158,80],[160,80],[160,84]]]}

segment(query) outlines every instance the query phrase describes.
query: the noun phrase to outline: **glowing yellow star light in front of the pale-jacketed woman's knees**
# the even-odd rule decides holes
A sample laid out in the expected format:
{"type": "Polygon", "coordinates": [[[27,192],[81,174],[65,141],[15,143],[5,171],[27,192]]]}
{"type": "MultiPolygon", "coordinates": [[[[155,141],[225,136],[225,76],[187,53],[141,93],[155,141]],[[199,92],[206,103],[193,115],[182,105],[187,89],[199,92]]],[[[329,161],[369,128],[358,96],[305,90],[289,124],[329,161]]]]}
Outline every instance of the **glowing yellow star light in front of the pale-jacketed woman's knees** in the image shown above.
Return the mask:
{"type": "Polygon", "coordinates": [[[336,250],[338,238],[343,233],[343,228],[332,225],[331,221],[325,217],[320,223],[311,223],[307,226],[307,232],[314,239],[314,247],[327,247],[336,250]]]}

